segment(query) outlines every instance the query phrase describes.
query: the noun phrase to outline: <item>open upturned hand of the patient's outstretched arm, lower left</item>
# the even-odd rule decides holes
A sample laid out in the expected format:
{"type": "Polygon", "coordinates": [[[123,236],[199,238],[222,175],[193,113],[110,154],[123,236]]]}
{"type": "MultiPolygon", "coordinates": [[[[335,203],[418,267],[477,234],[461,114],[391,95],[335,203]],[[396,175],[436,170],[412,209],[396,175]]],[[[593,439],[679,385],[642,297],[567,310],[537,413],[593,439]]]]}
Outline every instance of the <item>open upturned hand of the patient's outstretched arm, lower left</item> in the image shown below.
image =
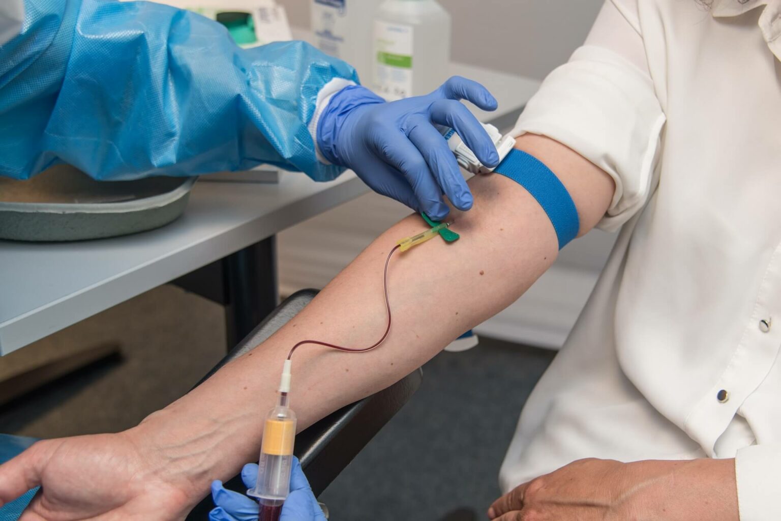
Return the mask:
{"type": "Polygon", "coordinates": [[[37,442],[0,466],[0,505],[39,485],[20,521],[184,519],[198,500],[127,433],[37,442]]]}

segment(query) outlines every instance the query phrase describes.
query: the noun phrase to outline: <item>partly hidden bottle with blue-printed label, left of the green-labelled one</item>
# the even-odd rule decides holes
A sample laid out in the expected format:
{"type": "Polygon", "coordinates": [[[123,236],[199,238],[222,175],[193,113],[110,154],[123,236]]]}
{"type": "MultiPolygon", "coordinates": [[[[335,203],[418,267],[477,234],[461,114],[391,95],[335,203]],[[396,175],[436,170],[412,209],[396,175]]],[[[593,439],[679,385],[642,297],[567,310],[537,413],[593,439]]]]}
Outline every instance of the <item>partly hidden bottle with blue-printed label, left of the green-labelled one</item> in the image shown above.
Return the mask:
{"type": "Polygon", "coordinates": [[[371,87],[374,67],[373,20],[381,2],[312,0],[314,45],[354,66],[367,87],[371,87]]]}

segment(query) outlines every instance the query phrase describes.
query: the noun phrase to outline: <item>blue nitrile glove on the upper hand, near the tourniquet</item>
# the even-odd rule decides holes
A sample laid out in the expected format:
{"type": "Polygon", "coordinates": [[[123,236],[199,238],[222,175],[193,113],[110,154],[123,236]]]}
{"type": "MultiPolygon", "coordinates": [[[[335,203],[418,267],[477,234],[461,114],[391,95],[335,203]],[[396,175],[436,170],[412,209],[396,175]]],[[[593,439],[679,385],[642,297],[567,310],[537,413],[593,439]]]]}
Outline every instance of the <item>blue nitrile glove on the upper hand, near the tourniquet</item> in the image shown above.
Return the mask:
{"type": "Polygon", "coordinates": [[[459,99],[495,110],[482,85],[451,77],[429,95],[385,102],[355,85],[333,95],[317,123],[317,145],[330,162],[347,166],[374,191],[442,220],[446,194],[460,210],[472,208],[472,194],[458,162],[434,124],[451,127],[486,166],[499,155],[480,122],[459,99]]]}

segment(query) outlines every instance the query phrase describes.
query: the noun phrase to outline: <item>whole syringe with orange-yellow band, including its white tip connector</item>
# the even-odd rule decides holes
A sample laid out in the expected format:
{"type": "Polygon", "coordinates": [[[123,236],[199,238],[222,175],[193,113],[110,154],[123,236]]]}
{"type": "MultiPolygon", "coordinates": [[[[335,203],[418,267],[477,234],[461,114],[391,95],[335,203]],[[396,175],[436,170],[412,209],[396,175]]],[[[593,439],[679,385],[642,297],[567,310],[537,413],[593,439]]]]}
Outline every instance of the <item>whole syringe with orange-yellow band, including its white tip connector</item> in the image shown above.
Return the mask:
{"type": "Polygon", "coordinates": [[[266,416],[258,462],[258,482],[247,494],[260,504],[259,521],[280,519],[282,505],[290,493],[295,413],[288,406],[291,390],[291,361],[285,360],[280,381],[280,398],[266,416]]]}

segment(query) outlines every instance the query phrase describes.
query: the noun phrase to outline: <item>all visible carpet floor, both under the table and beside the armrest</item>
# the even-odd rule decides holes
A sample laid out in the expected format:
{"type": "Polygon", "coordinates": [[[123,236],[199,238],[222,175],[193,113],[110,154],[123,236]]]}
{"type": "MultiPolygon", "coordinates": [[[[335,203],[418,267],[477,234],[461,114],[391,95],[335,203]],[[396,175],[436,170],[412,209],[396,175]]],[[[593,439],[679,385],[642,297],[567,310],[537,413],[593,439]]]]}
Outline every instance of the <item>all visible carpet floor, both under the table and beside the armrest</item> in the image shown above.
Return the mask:
{"type": "MultiPolygon", "coordinates": [[[[95,363],[0,408],[0,432],[116,432],[178,398],[225,352],[223,309],[163,286],[0,358],[0,378],[80,344],[120,340],[95,363]]],[[[320,498],[338,521],[484,519],[524,401],[553,354],[482,338],[424,367],[412,401],[320,498]]]]}

